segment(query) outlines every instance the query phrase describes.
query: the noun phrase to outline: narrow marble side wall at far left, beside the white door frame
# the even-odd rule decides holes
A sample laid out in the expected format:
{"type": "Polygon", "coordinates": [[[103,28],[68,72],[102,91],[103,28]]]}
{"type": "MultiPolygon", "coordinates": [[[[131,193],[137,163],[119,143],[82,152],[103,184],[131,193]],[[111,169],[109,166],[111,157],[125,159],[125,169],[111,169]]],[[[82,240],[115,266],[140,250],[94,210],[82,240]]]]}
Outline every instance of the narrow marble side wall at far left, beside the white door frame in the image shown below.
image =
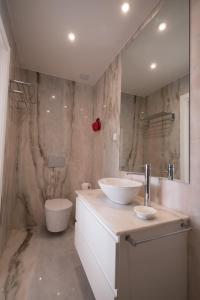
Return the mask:
{"type": "MultiPolygon", "coordinates": [[[[6,1],[0,0],[0,14],[6,30],[7,38],[11,48],[10,79],[21,77],[18,63],[16,44],[12,35],[6,1]]],[[[5,247],[11,224],[11,212],[16,197],[16,162],[17,162],[17,111],[12,95],[8,95],[6,141],[3,171],[3,190],[0,207],[0,255],[5,247]]]]}

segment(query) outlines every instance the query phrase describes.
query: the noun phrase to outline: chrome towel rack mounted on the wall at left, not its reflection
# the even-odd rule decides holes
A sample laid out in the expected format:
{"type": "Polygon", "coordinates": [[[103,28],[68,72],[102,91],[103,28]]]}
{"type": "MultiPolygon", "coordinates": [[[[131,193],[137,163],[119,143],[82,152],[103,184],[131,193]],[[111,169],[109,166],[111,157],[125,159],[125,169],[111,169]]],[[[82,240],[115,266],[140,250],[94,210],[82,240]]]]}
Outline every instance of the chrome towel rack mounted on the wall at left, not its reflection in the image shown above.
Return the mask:
{"type": "Polygon", "coordinates": [[[10,80],[10,92],[15,95],[13,100],[16,101],[17,109],[26,109],[31,111],[31,106],[37,104],[37,98],[35,96],[34,84],[30,82],[24,82],[20,80],[10,80]]]}

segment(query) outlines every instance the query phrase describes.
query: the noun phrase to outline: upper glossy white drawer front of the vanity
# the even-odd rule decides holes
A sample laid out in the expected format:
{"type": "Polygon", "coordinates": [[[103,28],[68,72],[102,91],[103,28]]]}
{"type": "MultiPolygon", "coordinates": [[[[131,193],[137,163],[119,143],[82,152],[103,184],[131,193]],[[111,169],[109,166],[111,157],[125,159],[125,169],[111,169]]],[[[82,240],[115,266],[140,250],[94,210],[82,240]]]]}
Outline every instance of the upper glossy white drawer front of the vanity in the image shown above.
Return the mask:
{"type": "Polygon", "coordinates": [[[114,239],[79,199],[76,201],[76,220],[104,276],[114,290],[116,288],[117,237],[114,239]]]}

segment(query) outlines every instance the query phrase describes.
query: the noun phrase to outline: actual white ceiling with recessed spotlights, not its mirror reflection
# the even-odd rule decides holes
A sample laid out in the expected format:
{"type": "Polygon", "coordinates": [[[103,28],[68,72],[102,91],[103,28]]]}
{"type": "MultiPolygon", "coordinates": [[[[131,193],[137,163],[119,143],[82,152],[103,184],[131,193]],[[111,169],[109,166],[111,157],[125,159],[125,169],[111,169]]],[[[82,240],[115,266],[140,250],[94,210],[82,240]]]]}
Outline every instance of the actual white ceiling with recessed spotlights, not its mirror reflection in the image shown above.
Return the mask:
{"type": "Polygon", "coordinates": [[[158,0],[7,0],[24,68],[94,84],[158,0]],[[71,44],[67,35],[75,32],[71,44]]]}

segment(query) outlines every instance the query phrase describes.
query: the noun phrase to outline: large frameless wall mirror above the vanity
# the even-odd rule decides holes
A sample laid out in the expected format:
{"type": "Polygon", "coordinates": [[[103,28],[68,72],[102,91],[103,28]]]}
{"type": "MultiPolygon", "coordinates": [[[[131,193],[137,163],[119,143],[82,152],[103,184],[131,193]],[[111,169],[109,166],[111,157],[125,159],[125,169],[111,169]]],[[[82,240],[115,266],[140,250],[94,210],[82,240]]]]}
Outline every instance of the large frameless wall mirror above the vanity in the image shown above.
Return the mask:
{"type": "Polygon", "coordinates": [[[122,54],[120,170],[189,182],[189,70],[189,0],[165,0],[122,54]]]}

